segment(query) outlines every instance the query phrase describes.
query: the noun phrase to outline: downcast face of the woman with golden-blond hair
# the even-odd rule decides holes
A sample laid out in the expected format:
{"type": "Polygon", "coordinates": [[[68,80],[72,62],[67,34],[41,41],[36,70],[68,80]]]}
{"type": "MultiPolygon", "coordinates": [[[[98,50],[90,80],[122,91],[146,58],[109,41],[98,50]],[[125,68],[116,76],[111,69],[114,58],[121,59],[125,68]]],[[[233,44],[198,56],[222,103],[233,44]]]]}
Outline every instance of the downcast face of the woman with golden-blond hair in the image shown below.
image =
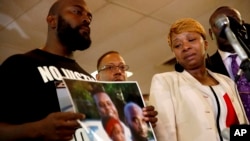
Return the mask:
{"type": "Polygon", "coordinates": [[[197,69],[205,63],[207,41],[197,32],[172,34],[172,51],[186,70],[197,69]]]}

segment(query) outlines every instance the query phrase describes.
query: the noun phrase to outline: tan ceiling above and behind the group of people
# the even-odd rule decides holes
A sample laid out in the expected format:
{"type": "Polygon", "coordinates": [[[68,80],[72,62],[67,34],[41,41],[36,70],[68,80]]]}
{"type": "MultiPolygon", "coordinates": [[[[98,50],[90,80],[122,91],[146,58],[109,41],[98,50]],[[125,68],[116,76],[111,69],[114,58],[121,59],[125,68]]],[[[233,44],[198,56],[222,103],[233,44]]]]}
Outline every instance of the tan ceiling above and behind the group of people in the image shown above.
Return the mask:
{"type": "MultiPolygon", "coordinates": [[[[0,0],[0,64],[10,55],[44,45],[49,7],[55,0],[0,0]]],[[[170,71],[165,62],[173,59],[166,37],[178,18],[191,17],[209,28],[208,18],[219,6],[238,9],[250,22],[249,0],[86,0],[93,13],[92,46],[75,53],[75,59],[88,72],[96,70],[97,59],[117,50],[133,72],[129,80],[138,81],[148,93],[155,73],[170,71]]],[[[209,51],[215,42],[209,41],[209,51]]]]}

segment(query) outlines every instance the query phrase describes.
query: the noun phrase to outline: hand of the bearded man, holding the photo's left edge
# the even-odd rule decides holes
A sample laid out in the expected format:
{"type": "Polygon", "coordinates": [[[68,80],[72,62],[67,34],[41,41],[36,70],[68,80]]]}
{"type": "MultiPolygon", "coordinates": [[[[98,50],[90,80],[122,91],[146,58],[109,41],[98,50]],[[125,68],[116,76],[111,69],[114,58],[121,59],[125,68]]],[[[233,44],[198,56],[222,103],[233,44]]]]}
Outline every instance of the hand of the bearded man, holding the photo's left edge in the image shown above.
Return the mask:
{"type": "Polygon", "coordinates": [[[57,112],[49,114],[39,121],[41,135],[44,140],[69,141],[77,128],[80,128],[77,120],[82,120],[85,115],[72,112],[57,112]]]}

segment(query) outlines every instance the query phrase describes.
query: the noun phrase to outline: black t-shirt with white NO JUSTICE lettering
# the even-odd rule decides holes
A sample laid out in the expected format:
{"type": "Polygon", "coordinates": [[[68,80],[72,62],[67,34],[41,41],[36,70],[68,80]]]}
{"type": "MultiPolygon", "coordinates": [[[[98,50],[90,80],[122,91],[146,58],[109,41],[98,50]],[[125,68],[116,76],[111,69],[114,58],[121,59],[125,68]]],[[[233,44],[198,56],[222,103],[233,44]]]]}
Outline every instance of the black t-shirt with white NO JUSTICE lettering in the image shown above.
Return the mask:
{"type": "Polygon", "coordinates": [[[39,49],[13,55],[0,66],[0,122],[38,121],[60,111],[55,81],[95,80],[75,60],[39,49]]]}

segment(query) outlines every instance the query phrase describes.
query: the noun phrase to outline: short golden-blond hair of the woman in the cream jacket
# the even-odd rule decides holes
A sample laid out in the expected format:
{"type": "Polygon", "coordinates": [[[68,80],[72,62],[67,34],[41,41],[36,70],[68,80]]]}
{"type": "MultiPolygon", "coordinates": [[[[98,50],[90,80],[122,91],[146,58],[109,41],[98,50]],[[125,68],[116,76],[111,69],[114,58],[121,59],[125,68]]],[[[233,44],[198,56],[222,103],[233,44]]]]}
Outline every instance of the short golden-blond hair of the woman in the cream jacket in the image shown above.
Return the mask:
{"type": "Polygon", "coordinates": [[[175,21],[170,27],[168,34],[168,44],[170,47],[172,46],[173,34],[180,34],[182,32],[197,32],[206,40],[206,31],[201,23],[192,18],[182,18],[175,21]]]}

